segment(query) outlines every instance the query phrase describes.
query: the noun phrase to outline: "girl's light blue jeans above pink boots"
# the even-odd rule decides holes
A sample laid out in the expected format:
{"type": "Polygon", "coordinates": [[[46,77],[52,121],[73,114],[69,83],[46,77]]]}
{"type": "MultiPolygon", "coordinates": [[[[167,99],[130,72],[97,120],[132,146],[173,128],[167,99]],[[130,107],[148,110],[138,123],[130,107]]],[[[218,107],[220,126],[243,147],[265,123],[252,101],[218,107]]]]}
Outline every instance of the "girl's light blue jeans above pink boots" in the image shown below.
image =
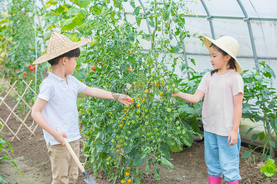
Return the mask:
{"type": "Polygon", "coordinates": [[[220,136],[204,130],[205,162],[208,175],[222,177],[227,182],[241,180],[239,170],[241,136],[238,133],[238,143],[229,145],[228,136],[220,136]]]}

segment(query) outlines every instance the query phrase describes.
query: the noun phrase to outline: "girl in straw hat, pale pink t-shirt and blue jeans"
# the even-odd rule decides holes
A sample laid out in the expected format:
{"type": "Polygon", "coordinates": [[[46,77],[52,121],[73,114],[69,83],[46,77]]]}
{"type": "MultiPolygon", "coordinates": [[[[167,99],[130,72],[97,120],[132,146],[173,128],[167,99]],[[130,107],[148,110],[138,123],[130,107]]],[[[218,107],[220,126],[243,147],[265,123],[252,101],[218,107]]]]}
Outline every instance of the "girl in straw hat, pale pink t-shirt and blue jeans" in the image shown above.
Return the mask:
{"type": "Polygon", "coordinates": [[[241,138],[239,125],[242,118],[242,67],[237,60],[239,43],[230,36],[217,40],[201,35],[209,50],[214,70],[207,72],[194,94],[174,92],[191,103],[203,96],[202,122],[205,137],[205,162],[208,184],[221,184],[222,174],[228,184],[239,184],[239,153],[241,138]]]}

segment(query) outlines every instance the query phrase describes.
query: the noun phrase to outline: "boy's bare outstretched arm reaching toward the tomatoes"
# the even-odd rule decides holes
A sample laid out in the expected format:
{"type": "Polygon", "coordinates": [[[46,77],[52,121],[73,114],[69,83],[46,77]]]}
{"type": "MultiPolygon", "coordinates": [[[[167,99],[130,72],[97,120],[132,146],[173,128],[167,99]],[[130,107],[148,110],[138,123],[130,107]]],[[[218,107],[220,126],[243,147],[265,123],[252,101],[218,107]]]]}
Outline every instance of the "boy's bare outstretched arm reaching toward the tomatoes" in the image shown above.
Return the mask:
{"type": "Polygon", "coordinates": [[[88,86],[81,93],[92,96],[92,97],[96,97],[96,98],[118,100],[119,102],[121,102],[127,106],[134,103],[134,102],[131,102],[132,98],[130,96],[128,96],[127,94],[120,94],[120,93],[116,93],[116,92],[107,92],[102,89],[91,88],[88,86]]]}

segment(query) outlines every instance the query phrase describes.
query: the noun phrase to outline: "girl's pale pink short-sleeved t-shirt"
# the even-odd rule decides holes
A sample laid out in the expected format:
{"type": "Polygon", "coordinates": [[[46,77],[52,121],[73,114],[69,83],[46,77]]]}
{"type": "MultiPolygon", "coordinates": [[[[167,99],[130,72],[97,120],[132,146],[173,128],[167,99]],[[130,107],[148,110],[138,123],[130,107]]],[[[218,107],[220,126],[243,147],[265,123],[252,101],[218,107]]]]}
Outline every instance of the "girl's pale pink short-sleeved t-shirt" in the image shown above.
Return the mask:
{"type": "MultiPolygon", "coordinates": [[[[242,92],[242,76],[231,70],[224,75],[212,76],[207,72],[198,87],[205,93],[202,107],[204,130],[221,136],[228,136],[233,128],[234,96],[242,92]]],[[[239,132],[239,130],[238,130],[239,132]]]]}

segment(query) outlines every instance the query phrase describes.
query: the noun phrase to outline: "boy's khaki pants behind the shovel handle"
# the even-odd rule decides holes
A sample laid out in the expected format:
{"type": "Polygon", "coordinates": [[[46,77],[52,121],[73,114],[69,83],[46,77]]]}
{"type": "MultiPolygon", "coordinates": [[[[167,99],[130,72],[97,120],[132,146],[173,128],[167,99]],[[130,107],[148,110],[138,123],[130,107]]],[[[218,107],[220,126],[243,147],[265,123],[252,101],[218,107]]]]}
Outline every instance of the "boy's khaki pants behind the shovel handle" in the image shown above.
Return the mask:
{"type": "MultiPolygon", "coordinates": [[[[69,142],[69,145],[79,158],[79,140],[69,142]]],[[[69,153],[66,146],[62,144],[47,144],[48,154],[52,168],[52,184],[75,184],[78,178],[78,165],[69,153]]]]}

